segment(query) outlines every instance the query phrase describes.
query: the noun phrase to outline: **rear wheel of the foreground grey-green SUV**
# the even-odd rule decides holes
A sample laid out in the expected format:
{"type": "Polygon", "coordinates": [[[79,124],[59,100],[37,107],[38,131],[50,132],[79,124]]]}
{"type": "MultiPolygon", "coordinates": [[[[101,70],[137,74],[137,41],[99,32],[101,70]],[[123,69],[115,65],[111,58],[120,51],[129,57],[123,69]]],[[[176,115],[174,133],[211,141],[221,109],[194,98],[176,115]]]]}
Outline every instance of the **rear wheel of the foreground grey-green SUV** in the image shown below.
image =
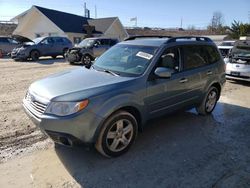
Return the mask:
{"type": "Polygon", "coordinates": [[[196,107],[196,111],[200,115],[211,114],[217,104],[218,99],[219,99],[218,89],[214,86],[210,87],[200,105],[196,107]]]}

